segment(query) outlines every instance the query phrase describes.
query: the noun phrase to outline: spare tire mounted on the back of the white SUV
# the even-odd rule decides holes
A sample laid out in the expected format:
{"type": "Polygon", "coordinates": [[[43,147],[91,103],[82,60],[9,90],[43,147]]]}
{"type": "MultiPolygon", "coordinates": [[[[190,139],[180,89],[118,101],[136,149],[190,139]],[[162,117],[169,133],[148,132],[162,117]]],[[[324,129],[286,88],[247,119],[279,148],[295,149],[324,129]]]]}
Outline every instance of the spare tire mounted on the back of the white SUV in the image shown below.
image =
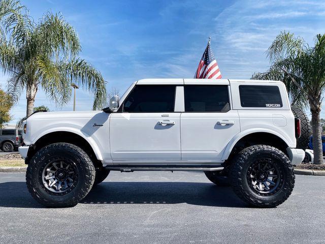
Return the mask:
{"type": "Polygon", "coordinates": [[[291,107],[295,117],[300,119],[300,137],[297,138],[296,148],[306,150],[311,136],[311,126],[307,114],[300,108],[291,107]]]}

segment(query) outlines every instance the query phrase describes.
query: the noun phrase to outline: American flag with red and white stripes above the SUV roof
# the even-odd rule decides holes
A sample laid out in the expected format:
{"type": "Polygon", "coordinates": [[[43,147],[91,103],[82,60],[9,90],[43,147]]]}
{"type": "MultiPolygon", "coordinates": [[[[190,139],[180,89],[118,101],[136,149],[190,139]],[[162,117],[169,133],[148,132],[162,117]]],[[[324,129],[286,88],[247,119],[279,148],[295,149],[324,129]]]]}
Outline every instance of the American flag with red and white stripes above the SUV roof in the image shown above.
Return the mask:
{"type": "Polygon", "coordinates": [[[205,49],[197,73],[194,75],[196,79],[221,79],[221,73],[218,67],[218,63],[215,60],[213,51],[210,46],[210,39],[205,49]]]}

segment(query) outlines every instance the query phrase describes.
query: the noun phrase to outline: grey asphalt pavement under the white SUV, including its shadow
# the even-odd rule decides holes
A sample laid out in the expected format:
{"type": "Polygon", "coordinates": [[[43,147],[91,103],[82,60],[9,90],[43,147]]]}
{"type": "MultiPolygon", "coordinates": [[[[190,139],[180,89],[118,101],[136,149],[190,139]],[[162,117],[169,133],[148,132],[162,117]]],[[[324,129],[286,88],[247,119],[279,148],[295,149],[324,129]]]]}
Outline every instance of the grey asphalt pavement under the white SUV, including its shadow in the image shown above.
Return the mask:
{"type": "Polygon", "coordinates": [[[0,243],[321,243],[325,177],[296,176],[290,198],[251,208],[200,172],[112,172],[73,208],[43,208],[24,174],[0,173],[0,243]]]}

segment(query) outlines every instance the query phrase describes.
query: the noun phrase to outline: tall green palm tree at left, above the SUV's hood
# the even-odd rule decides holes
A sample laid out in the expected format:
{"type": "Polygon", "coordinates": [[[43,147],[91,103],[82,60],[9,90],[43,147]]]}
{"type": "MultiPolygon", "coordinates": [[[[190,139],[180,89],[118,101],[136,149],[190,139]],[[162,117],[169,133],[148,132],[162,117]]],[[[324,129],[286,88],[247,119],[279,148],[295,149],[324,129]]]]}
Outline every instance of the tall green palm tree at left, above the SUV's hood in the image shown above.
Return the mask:
{"type": "Polygon", "coordinates": [[[78,58],[81,51],[75,29],[62,15],[48,12],[38,22],[19,1],[0,2],[0,66],[8,80],[8,93],[16,102],[26,90],[28,117],[39,88],[57,105],[67,104],[71,83],[94,94],[93,109],[106,103],[100,72],[78,58]]]}

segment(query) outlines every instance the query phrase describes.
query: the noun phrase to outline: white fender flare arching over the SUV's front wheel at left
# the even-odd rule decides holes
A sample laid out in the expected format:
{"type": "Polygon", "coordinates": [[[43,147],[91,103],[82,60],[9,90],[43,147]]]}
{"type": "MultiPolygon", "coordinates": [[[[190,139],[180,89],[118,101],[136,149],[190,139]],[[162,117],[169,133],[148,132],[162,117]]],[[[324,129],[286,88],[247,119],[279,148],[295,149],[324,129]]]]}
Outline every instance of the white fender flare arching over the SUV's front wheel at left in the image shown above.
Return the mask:
{"type": "Polygon", "coordinates": [[[52,128],[52,129],[48,129],[44,132],[42,132],[41,134],[38,135],[38,137],[34,138],[32,141],[32,144],[35,144],[41,137],[49,134],[49,133],[53,133],[53,132],[71,132],[74,133],[78,136],[81,136],[83,139],[85,139],[89,145],[91,146],[96,158],[100,161],[104,161],[102,153],[100,148],[98,147],[98,145],[96,144],[96,142],[91,138],[91,136],[89,136],[87,133],[78,130],[76,128],[71,128],[71,127],[56,127],[56,128],[52,128]]]}

